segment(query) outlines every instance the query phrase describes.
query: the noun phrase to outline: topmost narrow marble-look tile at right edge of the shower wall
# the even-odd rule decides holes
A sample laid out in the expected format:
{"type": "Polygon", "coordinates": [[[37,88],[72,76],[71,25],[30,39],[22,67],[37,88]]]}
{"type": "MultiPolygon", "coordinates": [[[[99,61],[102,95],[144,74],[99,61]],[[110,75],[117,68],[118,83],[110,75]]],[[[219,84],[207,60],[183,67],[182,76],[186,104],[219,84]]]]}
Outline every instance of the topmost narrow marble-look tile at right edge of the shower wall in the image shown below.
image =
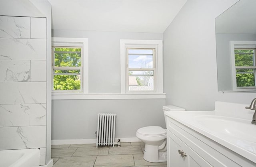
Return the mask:
{"type": "Polygon", "coordinates": [[[30,18],[31,38],[46,39],[46,18],[30,18]]]}

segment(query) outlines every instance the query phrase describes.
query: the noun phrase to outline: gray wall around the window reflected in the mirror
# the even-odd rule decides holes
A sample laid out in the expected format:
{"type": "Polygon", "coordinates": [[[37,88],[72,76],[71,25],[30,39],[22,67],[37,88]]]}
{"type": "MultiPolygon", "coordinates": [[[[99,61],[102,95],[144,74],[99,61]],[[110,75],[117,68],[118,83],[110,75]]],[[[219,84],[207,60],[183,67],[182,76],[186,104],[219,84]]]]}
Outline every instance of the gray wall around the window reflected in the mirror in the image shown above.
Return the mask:
{"type": "Polygon", "coordinates": [[[216,33],[218,90],[232,90],[230,41],[255,41],[256,34],[216,33]]]}

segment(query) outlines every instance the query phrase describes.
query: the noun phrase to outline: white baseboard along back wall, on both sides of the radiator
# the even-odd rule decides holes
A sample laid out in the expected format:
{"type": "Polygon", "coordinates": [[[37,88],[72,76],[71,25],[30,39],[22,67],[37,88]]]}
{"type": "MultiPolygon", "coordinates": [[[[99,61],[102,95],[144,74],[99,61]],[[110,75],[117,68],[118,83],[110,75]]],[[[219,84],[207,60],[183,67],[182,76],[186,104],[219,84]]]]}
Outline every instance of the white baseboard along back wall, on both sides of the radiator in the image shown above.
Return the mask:
{"type": "MultiPolygon", "coordinates": [[[[120,139],[121,142],[140,142],[138,138],[115,138],[115,141],[120,139]]],[[[60,144],[91,144],[96,143],[96,139],[67,139],[67,140],[52,140],[52,145],[60,144]]]]}

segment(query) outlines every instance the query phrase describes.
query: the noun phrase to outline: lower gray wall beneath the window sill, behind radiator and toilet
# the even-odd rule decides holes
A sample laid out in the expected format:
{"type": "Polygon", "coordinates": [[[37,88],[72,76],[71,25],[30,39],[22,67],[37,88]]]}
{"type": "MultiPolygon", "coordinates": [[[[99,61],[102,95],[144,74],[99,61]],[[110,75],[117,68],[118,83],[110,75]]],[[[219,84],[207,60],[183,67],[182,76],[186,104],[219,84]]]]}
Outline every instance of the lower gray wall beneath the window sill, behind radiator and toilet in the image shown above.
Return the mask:
{"type": "Polygon", "coordinates": [[[165,127],[164,99],[53,100],[52,139],[96,139],[97,114],[116,113],[116,138],[136,137],[143,126],[165,127]]]}

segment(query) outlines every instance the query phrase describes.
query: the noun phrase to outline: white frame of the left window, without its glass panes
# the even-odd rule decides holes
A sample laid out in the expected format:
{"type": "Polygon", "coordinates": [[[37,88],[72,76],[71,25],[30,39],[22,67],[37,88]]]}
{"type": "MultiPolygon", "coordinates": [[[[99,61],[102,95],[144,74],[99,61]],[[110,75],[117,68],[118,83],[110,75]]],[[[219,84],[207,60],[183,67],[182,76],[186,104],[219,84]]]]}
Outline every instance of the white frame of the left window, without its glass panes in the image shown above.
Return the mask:
{"type": "MultiPolygon", "coordinates": [[[[65,69],[65,68],[61,68],[65,69]]],[[[52,37],[52,94],[84,94],[88,93],[88,39],[87,38],[64,38],[64,37],[52,37]],[[53,77],[54,77],[54,49],[53,47],[81,47],[81,67],[75,67],[80,69],[81,77],[81,89],[80,90],[53,90],[53,77]]]]}

